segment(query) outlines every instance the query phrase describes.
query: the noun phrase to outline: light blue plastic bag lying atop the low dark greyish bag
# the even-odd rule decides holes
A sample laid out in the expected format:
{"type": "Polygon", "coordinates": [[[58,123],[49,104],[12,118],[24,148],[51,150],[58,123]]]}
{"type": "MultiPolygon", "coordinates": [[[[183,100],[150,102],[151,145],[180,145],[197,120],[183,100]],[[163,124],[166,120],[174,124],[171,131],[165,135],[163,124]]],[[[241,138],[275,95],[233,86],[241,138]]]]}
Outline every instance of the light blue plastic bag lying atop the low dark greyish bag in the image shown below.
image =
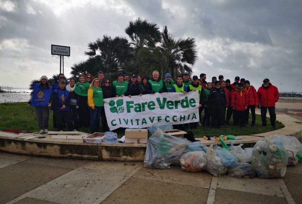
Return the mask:
{"type": "Polygon", "coordinates": [[[224,149],[220,146],[214,146],[214,152],[217,156],[221,159],[221,162],[226,167],[237,167],[240,166],[242,163],[237,161],[235,155],[227,149],[224,149]]]}

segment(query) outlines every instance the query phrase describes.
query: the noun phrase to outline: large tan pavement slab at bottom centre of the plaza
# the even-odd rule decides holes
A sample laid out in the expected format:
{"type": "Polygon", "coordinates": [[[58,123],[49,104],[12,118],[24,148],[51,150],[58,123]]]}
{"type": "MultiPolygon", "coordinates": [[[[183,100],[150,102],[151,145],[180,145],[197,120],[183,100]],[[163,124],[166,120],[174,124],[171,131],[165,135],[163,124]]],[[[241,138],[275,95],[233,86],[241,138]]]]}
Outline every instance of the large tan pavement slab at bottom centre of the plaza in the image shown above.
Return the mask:
{"type": "Polygon", "coordinates": [[[106,203],[207,203],[209,190],[196,186],[130,178],[102,204],[106,203]]]}

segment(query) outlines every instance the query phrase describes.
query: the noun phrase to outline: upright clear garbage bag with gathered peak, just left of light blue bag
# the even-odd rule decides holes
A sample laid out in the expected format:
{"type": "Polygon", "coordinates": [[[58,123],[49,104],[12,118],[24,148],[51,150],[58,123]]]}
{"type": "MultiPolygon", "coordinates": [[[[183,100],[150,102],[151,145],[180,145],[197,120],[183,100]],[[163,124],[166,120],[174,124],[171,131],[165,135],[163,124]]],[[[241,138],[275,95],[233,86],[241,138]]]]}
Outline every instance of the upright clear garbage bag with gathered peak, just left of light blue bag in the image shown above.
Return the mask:
{"type": "Polygon", "coordinates": [[[213,145],[211,145],[207,149],[207,153],[205,154],[207,159],[206,170],[213,176],[221,176],[226,174],[228,167],[224,166],[221,159],[216,155],[213,145]]]}

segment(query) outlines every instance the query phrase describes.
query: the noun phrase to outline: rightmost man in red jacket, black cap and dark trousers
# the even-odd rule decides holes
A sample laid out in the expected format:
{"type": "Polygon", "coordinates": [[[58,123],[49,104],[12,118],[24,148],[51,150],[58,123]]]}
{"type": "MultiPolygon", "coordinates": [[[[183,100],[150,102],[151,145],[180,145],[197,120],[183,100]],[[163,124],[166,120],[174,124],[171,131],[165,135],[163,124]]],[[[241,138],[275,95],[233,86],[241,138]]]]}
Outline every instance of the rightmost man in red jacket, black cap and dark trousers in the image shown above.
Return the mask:
{"type": "Polygon", "coordinates": [[[262,126],[266,126],[266,113],[268,109],[271,126],[276,129],[275,103],[279,100],[278,88],[273,86],[269,82],[269,79],[264,79],[257,93],[261,106],[262,126]]]}

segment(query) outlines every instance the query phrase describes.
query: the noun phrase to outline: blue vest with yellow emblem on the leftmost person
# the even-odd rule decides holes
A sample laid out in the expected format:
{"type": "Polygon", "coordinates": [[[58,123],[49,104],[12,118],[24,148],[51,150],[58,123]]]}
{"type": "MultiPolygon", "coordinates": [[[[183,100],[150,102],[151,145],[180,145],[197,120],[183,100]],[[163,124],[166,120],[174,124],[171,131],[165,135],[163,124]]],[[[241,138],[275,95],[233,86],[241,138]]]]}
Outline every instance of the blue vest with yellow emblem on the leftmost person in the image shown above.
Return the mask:
{"type": "Polygon", "coordinates": [[[49,86],[48,89],[41,88],[39,83],[34,83],[33,97],[31,106],[48,106],[53,87],[49,86]]]}

